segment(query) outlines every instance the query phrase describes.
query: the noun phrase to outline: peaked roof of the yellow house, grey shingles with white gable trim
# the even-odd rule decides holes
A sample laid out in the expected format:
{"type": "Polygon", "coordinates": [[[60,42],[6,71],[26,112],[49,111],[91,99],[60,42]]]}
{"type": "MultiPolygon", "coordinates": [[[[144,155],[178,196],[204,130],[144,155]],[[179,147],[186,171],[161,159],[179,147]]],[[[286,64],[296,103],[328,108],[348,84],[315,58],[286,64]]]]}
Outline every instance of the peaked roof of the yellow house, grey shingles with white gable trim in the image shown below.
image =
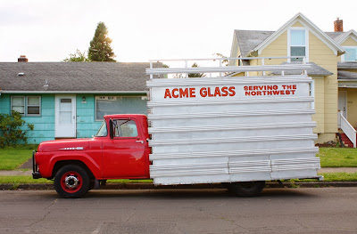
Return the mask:
{"type": "Polygon", "coordinates": [[[327,44],[331,49],[333,49],[336,54],[342,54],[345,50],[332,38],[339,35],[334,34],[328,36],[320,28],[318,28],[311,20],[307,19],[302,13],[297,13],[292,19],[288,20],[281,28],[277,31],[247,31],[247,30],[235,30],[234,35],[237,37],[237,43],[241,49],[243,57],[249,56],[250,52],[262,52],[262,50],[268,46],[272,41],[274,41],[278,36],[286,31],[287,28],[299,21],[303,24],[305,28],[309,28],[315,36],[318,36],[325,44],[327,44]],[[250,39],[252,38],[252,39],[250,39]]]}

